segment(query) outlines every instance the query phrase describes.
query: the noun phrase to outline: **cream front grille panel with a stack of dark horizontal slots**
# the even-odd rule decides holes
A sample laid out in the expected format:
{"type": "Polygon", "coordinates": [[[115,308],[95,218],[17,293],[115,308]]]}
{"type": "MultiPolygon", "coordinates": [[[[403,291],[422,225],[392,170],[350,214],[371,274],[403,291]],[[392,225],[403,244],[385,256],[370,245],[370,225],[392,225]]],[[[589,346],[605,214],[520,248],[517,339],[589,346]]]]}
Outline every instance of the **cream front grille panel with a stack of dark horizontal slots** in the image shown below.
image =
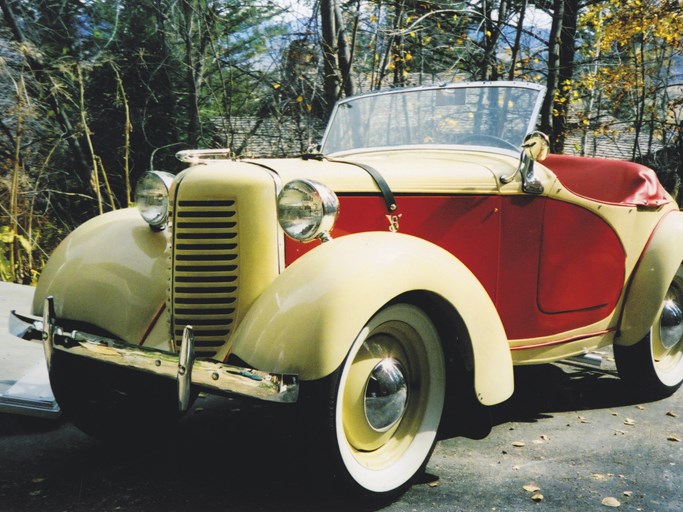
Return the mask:
{"type": "Polygon", "coordinates": [[[237,308],[236,201],[178,200],[173,239],[173,335],[179,344],[191,325],[196,351],[211,357],[232,331],[237,308]]]}

